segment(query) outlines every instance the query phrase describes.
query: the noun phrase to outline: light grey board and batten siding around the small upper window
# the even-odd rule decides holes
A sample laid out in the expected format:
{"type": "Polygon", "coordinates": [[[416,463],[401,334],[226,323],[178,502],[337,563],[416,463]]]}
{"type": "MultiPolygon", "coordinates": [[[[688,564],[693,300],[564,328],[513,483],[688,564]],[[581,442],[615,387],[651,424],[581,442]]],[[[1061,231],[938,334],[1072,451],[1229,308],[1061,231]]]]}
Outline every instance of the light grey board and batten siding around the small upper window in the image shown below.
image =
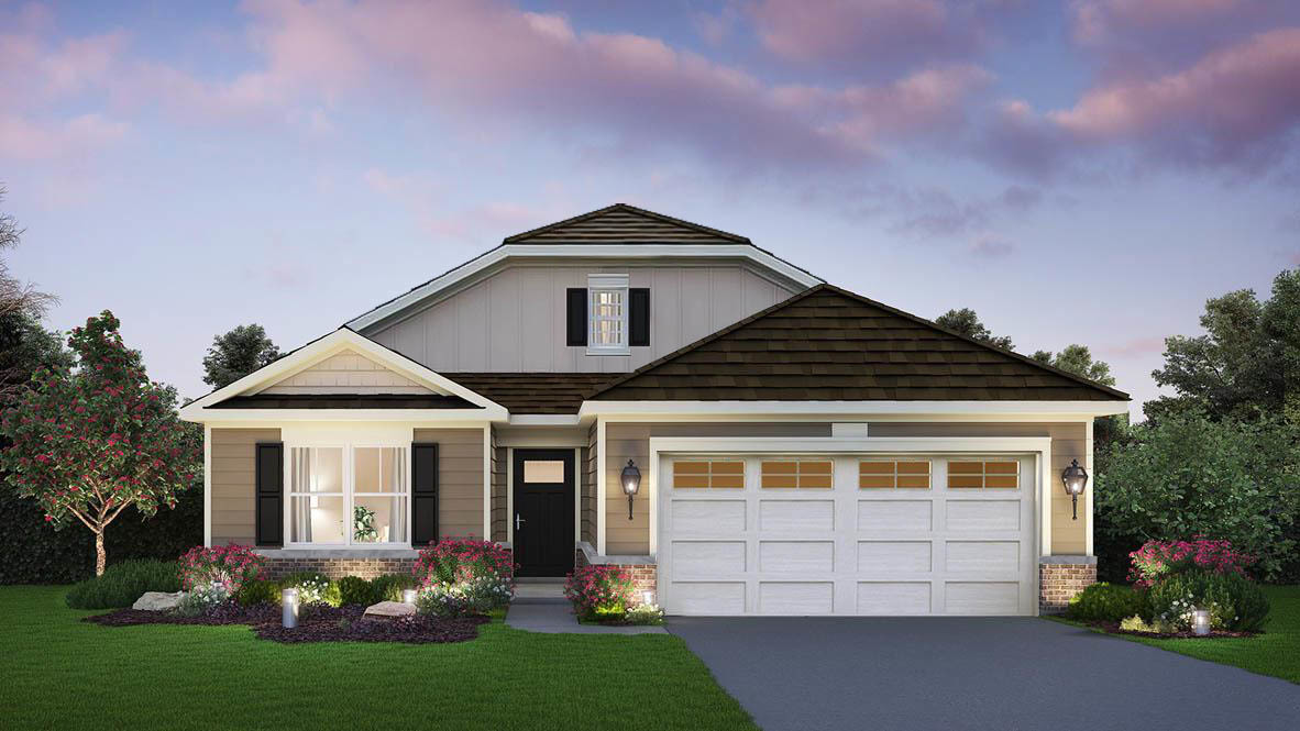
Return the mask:
{"type": "Polygon", "coordinates": [[[699,266],[511,265],[406,319],[364,335],[436,371],[621,373],[789,299],[741,264],[699,266]],[[566,345],[566,290],[588,274],[628,274],[650,288],[650,347],[588,356],[566,345]]]}

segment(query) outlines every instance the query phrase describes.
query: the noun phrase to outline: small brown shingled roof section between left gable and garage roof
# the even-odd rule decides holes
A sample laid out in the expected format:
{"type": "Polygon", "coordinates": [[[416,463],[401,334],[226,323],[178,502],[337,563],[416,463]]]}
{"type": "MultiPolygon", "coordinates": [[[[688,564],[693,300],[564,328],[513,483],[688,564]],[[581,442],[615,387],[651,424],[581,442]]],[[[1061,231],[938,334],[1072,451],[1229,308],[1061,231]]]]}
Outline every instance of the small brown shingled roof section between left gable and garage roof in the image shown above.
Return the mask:
{"type": "Polygon", "coordinates": [[[512,414],[576,414],[582,397],[619,373],[438,373],[512,414]]]}

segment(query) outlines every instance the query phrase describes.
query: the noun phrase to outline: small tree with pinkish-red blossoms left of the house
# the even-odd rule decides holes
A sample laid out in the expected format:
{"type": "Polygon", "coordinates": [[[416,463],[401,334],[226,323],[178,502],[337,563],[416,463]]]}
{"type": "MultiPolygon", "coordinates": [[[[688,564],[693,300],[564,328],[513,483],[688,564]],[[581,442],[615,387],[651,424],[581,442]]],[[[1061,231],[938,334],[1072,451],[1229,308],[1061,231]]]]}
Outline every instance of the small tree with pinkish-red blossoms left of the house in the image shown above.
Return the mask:
{"type": "Polygon", "coordinates": [[[176,391],[144,374],[104,310],[68,339],[75,367],[43,367],[4,413],[6,482],[36,500],[56,528],[81,521],[95,534],[104,573],[104,528],[127,505],[150,517],[176,506],[202,470],[202,434],[182,423],[176,391]]]}

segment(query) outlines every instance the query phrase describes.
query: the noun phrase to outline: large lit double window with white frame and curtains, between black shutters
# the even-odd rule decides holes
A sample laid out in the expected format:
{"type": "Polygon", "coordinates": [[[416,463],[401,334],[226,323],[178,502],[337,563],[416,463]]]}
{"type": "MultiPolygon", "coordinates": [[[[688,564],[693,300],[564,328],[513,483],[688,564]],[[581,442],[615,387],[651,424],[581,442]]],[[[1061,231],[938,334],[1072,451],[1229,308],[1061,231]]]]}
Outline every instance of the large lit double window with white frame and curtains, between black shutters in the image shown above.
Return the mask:
{"type": "Polygon", "coordinates": [[[292,447],[289,541],[406,544],[408,486],[403,447],[292,447]]]}

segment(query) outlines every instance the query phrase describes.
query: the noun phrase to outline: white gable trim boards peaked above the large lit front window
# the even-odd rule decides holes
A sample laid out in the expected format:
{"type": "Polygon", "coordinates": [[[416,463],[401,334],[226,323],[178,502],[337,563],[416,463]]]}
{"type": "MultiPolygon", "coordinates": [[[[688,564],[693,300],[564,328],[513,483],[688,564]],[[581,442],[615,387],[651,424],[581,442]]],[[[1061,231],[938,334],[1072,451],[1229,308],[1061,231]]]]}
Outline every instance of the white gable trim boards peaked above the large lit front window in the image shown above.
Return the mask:
{"type": "MultiPolygon", "coordinates": [[[[186,421],[208,421],[204,418],[198,418],[207,414],[207,408],[213,404],[220,404],[226,399],[233,396],[240,396],[244,393],[257,393],[272,384],[283,380],[285,378],[292,375],[294,373],[306,370],[325,358],[343,352],[343,351],[356,351],[373,361],[393,369],[395,373],[410,378],[411,380],[425,386],[430,391],[437,393],[450,393],[452,396],[459,396],[471,404],[476,404],[484,408],[485,417],[488,419],[506,419],[508,412],[500,404],[485,399],[484,396],[465,388],[464,386],[439,375],[438,373],[412,361],[411,358],[380,345],[374,340],[364,335],[359,335],[346,327],[341,327],[334,332],[311,343],[303,345],[302,348],[294,351],[289,356],[280,358],[278,361],[255,370],[248,375],[235,380],[234,383],[226,386],[225,388],[218,388],[212,393],[186,405],[181,409],[181,418],[186,421]]],[[[231,409],[234,410],[234,409],[231,409]]],[[[312,410],[312,409],[281,409],[280,412],[290,410],[312,410]]],[[[317,412],[325,409],[315,409],[317,412]]],[[[360,409],[365,410],[365,409],[360,409]]],[[[408,410],[408,409],[389,409],[389,410],[408,410]]],[[[464,412],[464,409],[447,409],[448,412],[464,412]]],[[[426,412],[422,412],[426,413],[426,412]]],[[[385,419],[387,421],[387,419],[385,419]]]]}

